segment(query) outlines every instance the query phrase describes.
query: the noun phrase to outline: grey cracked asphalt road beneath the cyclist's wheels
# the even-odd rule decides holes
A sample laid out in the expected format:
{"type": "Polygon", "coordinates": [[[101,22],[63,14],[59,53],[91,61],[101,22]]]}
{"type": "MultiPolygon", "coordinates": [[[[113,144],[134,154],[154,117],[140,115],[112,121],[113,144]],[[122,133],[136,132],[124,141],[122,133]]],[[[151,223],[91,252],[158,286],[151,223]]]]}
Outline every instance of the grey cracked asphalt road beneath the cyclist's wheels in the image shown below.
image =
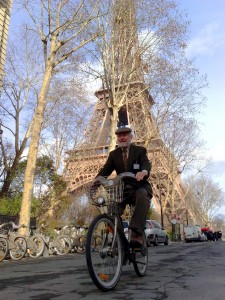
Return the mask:
{"type": "Polygon", "coordinates": [[[93,285],[84,254],[3,261],[0,299],[224,300],[225,242],[152,246],[146,277],[125,266],[118,286],[108,293],[93,285]]]}

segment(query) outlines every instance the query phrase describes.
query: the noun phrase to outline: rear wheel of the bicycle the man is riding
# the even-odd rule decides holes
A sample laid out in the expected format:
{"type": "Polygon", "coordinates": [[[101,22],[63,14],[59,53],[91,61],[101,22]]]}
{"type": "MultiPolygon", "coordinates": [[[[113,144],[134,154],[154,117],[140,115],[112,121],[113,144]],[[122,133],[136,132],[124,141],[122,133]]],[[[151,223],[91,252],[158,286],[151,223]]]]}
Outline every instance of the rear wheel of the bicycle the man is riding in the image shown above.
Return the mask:
{"type": "Polygon", "coordinates": [[[140,277],[146,275],[147,267],[148,267],[148,248],[147,241],[144,234],[144,247],[141,250],[132,250],[133,251],[133,265],[136,274],[140,277]]]}

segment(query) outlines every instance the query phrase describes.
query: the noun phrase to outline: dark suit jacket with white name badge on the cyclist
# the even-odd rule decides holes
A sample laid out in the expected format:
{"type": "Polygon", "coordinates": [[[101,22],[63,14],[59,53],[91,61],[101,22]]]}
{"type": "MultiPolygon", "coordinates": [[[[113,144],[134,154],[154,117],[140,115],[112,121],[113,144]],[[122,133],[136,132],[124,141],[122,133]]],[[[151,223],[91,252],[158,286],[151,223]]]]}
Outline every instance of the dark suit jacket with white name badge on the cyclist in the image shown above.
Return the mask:
{"type": "Polygon", "coordinates": [[[142,170],[148,171],[148,176],[137,182],[137,185],[145,187],[152,195],[152,189],[147,180],[151,171],[151,163],[147,157],[146,148],[131,144],[127,161],[127,170],[125,170],[123,163],[122,149],[118,147],[109,153],[105,165],[99,171],[97,176],[108,177],[113,171],[116,171],[117,175],[123,172],[132,172],[133,174],[136,174],[142,170]]]}

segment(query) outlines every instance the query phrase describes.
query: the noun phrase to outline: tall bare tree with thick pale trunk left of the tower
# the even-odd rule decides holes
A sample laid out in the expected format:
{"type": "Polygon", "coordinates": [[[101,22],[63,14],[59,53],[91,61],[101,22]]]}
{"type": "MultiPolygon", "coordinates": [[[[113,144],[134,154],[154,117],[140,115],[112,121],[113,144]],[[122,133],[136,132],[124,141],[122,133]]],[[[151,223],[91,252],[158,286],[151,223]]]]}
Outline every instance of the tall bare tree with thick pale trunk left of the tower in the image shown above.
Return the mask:
{"type": "MultiPolygon", "coordinates": [[[[97,33],[91,31],[91,25],[98,17],[99,2],[91,4],[92,1],[85,0],[43,0],[38,1],[38,4],[23,1],[23,7],[33,22],[33,27],[29,25],[29,28],[42,42],[44,57],[43,80],[34,113],[20,213],[20,223],[27,226],[30,222],[35,165],[50,83],[54,72],[59,71],[57,67],[65,67],[66,59],[97,37],[97,33]]],[[[26,232],[26,229],[21,231],[26,232]]]]}

